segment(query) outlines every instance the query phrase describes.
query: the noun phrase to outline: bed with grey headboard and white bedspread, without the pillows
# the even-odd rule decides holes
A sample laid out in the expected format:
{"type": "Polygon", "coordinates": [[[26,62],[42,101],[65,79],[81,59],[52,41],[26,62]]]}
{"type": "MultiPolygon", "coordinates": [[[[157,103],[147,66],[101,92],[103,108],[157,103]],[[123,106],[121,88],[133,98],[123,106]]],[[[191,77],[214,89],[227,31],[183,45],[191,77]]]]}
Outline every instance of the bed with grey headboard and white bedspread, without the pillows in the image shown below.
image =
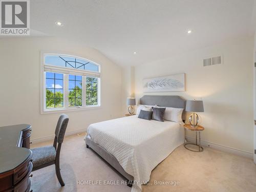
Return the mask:
{"type": "MultiPolygon", "coordinates": [[[[143,96],[140,104],[185,109],[179,96],[143,96]]],[[[185,117],[183,111],[182,119],[185,117]]],[[[132,191],[150,180],[151,171],[176,147],[184,143],[182,123],[139,119],[137,115],[93,123],[88,127],[86,146],[112,165],[132,191]],[[133,182],[131,182],[133,181],[133,182]]]]}

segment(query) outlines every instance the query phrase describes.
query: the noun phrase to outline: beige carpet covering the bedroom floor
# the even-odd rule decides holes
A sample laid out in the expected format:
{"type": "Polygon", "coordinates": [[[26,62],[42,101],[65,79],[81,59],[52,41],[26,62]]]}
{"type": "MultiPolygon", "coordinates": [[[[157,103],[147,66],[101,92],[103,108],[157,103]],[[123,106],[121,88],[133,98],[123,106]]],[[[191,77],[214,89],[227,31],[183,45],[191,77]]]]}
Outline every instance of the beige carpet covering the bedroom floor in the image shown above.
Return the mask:
{"type": "MultiPolygon", "coordinates": [[[[52,142],[32,144],[32,147],[52,142]]],[[[60,168],[66,185],[60,187],[54,165],[36,170],[31,178],[36,191],[131,191],[124,184],[77,184],[77,181],[123,181],[107,163],[85,147],[83,136],[68,136],[62,144],[60,168]]],[[[194,153],[183,145],[176,148],[151,174],[143,191],[256,191],[256,165],[251,159],[205,147],[194,153]],[[166,181],[165,184],[155,182],[166,181]],[[179,181],[174,185],[172,181],[179,181]],[[173,185],[172,185],[173,184],[173,185]]]]}

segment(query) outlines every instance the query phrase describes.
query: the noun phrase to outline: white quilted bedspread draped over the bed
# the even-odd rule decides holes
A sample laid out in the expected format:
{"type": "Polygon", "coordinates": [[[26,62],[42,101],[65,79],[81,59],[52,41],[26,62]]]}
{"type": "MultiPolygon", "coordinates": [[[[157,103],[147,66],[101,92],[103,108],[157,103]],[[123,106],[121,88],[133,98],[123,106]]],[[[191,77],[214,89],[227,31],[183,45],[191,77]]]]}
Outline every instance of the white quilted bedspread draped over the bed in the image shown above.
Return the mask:
{"type": "Polygon", "coordinates": [[[184,142],[181,124],[137,115],[91,124],[87,134],[134,177],[132,191],[141,191],[141,182],[149,181],[151,171],[184,142]]]}

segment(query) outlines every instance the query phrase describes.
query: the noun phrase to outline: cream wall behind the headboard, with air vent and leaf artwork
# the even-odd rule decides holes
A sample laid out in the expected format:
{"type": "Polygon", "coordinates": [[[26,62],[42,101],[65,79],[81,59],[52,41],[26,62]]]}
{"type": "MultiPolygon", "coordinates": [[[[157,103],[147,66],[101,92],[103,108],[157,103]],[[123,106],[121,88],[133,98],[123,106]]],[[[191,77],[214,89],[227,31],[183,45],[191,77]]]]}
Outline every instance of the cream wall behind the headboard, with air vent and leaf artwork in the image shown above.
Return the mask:
{"type": "MultiPolygon", "coordinates": [[[[142,79],[185,73],[185,92],[151,93],[180,95],[204,101],[200,113],[205,126],[202,140],[253,152],[253,38],[191,51],[135,68],[136,99],[143,96],[142,79]],[[223,54],[224,65],[203,67],[203,58],[223,54]]],[[[150,93],[145,93],[150,95],[150,93]]],[[[188,136],[191,132],[187,132],[188,136]]]]}

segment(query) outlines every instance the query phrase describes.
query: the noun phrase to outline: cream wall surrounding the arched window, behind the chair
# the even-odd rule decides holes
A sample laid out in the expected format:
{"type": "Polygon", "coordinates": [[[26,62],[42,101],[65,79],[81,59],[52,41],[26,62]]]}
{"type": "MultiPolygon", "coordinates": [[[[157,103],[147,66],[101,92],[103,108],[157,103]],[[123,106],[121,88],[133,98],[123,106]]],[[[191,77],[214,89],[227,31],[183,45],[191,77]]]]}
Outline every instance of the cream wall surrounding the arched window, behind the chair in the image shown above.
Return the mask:
{"type": "Polygon", "coordinates": [[[40,114],[40,50],[63,51],[101,65],[101,108],[66,112],[67,132],[121,116],[121,69],[95,49],[54,37],[0,39],[0,126],[28,123],[32,139],[54,134],[60,114],[40,114]]]}

